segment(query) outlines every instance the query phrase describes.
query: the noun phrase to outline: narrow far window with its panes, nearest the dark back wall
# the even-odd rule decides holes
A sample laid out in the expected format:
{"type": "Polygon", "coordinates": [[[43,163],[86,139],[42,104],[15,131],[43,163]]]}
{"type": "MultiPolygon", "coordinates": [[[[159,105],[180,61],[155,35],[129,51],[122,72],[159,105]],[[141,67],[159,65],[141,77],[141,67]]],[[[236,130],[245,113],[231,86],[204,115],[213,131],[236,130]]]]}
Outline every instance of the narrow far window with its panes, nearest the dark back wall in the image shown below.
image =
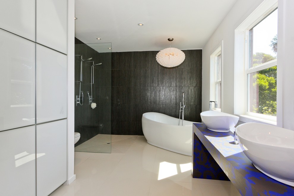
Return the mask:
{"type": "Polygon", "coordinates": [[[210,100],[217,102],[214,110],[222,105],[222,47],[219,46],[210,56],[210,100]]]}

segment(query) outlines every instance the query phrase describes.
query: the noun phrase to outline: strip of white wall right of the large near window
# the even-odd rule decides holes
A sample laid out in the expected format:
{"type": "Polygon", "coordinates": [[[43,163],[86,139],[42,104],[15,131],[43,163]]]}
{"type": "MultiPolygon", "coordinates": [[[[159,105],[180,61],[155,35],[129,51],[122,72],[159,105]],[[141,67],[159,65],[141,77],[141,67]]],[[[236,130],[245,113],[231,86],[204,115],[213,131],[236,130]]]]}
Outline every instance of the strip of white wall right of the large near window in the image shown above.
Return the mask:
{"type": "Polygon", "coordinates": [[[278,1],[278,71],[277,122],[279,127],[294,130],[294,1],[278,1]]]}

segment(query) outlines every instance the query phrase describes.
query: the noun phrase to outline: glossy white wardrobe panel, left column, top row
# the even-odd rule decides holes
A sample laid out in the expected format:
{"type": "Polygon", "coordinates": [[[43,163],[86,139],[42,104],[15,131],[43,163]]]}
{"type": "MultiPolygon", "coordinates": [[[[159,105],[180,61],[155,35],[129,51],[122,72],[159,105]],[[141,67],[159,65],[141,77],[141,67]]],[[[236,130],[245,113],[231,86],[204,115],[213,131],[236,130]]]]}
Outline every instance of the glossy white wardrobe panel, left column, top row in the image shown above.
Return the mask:
{"type": "Polygon", "coordinates": [[[35,0],[1,0],[0,28],[35,41],[35,14],[35,0]]]}

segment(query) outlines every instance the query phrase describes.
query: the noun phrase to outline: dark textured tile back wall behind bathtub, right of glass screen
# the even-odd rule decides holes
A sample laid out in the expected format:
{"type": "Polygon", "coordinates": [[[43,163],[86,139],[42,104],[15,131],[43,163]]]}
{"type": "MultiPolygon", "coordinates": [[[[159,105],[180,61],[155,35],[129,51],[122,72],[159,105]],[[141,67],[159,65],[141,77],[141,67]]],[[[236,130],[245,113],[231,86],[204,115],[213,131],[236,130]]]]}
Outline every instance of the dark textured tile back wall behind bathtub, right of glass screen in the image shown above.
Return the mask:
{"type": "Polygon", "coordinates": [[[158,51],[112,53],[111,133],[143,135],[142,115],[159,112],[179,117],[185,92],[185,120],[201,122],[202,50],[182,50],[184,62],[165,68],[158,51]]]}

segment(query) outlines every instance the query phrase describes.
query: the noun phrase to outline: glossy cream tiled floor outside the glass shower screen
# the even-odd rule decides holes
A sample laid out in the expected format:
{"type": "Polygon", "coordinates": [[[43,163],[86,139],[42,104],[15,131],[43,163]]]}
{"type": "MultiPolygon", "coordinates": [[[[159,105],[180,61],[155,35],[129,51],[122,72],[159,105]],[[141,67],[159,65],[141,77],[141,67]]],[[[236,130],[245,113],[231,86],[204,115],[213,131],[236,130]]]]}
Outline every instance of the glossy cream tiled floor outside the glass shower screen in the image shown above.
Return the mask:
{"type": "Polygon", "coordinates": [[[152,146],[144,136],[111,137],[111,154],[75,152],[76,180],[51,195],[240,195],[229,181],[192,178],[189,156],[152,146]]]}

